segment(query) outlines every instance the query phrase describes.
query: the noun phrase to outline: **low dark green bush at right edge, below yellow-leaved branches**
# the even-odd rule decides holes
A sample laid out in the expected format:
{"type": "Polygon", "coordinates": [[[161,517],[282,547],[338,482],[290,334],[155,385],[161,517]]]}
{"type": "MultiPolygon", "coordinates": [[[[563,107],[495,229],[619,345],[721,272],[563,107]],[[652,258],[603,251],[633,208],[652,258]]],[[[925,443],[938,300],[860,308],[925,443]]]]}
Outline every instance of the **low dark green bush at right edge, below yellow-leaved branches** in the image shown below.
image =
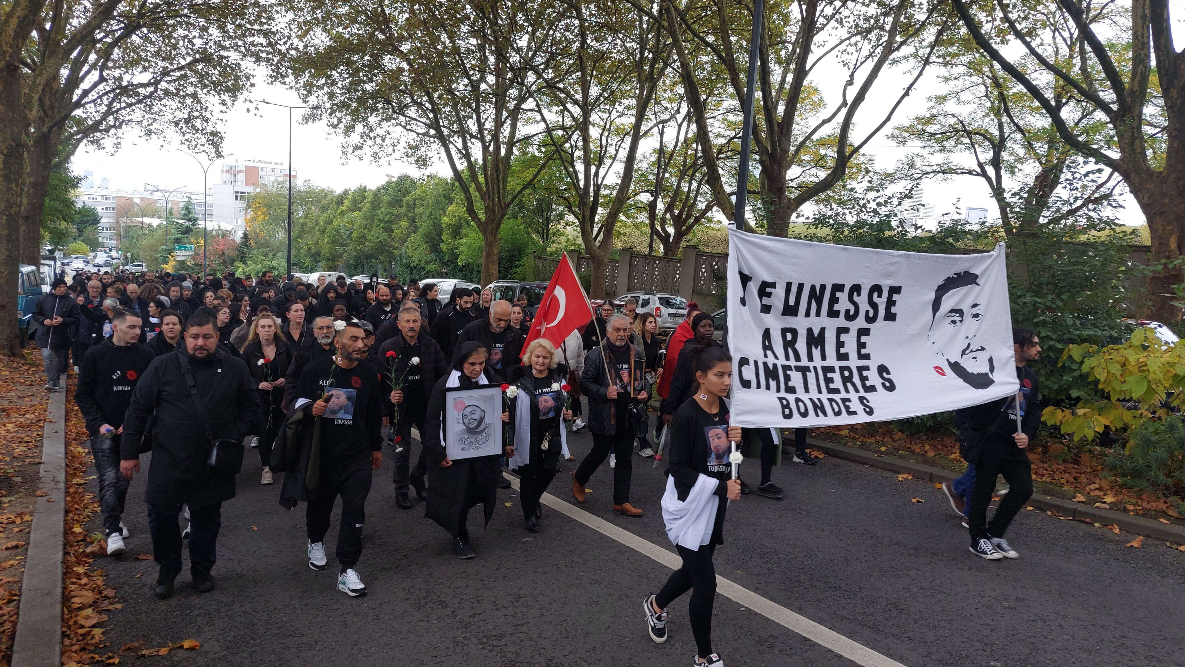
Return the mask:
{"type": "Polygon", "coordinates": [[[1185,496],[1185,423],[1180,417],[1147,421],[1130,431],[1126,453],[1106,466],[1126,486],[1151,490],[1180,505],[1185,496]]]}

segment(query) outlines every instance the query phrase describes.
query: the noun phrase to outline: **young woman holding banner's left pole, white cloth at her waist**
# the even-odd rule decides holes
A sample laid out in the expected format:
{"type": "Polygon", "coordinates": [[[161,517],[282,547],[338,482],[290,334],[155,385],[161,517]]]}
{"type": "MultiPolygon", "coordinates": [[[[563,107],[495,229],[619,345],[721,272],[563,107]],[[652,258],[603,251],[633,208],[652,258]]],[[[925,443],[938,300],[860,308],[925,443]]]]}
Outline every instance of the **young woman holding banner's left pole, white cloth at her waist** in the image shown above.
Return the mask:
{"type": "Polygon", "coordinates": [[[670,481],[667,494],[662,496],[662,518],[667,524],[667,534],[674,541],[675,531],[680,528],[677,515],[668,512],[668,505],[675,498],[678,504],[686,504],[693,492],[702,494],[709,488],[712,495],[703,501],[702,507],[710,511],[710,504],[715,502],[716,515],[710,531],[705,525],[678,533],[675,550],[683,558],[683,567],[675,570],[662,589],[648,596],[642,605],[651,639],[662,643],[667,640],[666,609],[690,589],[688,617],[697,648],[694,665],[724,667],[719,655],[712,653],[712,604],[716,598],[712,553],[716,545],[724,544],[728,501],[741,499],[741,481],[731,479],[731,448],[728,444],[741,441],[741,428],[729,424],[729,404],[723,398],[732,384],[732,358],[719,347],[704,347],[698,352],[692,367],[699,389],[675,411],[668,427],[671,451],[666,473],[670,481]],[[685,546],[687,544],[699,546],[691,549],[685,546]]]}

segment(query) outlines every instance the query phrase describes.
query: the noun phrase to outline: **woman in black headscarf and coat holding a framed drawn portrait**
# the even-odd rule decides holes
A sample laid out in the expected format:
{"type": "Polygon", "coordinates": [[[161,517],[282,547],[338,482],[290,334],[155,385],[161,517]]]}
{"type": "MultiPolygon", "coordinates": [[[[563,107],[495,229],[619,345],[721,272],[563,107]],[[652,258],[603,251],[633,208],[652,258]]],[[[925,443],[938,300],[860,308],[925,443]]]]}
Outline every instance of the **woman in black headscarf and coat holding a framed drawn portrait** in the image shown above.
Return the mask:
{"type": "MultiPolygon", "coordinates": [[[[425,517],[436,521],[451,535],[453,553],[457,558],[473,558],[469,530],[466,526],[469,509],[485,505],[485,525],[494,515],[498,501],[498,479],[501,477],[502,453],[451,461],[444,441],[446,389],[469,387],[491,384],[485,374],[486,348],[475,341],[457,346],[451,371],[436,381],[428,399],[425,428],[421,431],[424,449],[428,450],[428,505],[425,517]]],[[[487,417],[488,418],[488,417],[487,417]]],[[[510,412],[502,412],[501,422],[510,421],[510,412]]],[[[500,428],[499,423],[488,428],[500,428]]]]}

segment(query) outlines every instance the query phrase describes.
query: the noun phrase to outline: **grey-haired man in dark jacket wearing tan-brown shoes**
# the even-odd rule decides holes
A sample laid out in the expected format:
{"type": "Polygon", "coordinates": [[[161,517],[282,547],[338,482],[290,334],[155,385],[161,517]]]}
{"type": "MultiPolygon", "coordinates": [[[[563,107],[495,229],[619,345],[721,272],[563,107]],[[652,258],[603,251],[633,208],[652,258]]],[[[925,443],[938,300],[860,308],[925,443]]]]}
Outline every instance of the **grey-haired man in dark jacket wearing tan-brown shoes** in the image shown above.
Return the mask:
{"type": "Polygon", "coordinates": [[[629,504],[629,483],[634,473],[634,422],[630,409],[642,410],[649,396],[646,391],[646,359],[629,344],[629,318],[613,315],[606,322],[606,338],[584,357],[581,392],[589,399],[588,424],[592,450],[572,473],[572,495],[584,502],[584,485],[616,449],[617,464],[613,475],[613,511],[627,517],[641,517],[642,511],[629,504]]]}

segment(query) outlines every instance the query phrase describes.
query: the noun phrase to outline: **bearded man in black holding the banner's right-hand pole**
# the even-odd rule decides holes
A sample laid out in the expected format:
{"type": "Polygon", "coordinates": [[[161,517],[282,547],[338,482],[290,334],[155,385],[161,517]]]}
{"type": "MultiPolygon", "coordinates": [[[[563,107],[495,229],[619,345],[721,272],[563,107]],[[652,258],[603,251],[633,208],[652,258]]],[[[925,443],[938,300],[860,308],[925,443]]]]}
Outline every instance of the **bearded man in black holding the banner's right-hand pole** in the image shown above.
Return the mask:
{"type": "Polygon", "coordinates": [[[959,454],[975,467],[975,481],[967,512],[972,553],[988,560],[1019,558],[1004,539],[1004,532],[1033,494],[1029,444],[1040,428],[1040,387],[1030,361],[1040,358],[1040,341],[1030,329],[1012,329],[1017,379],[1020,391],[974,408],[955,410],[959,454]],[[1008,482],[1008,493],[987,522],[997,475],[1008,482]]]}

